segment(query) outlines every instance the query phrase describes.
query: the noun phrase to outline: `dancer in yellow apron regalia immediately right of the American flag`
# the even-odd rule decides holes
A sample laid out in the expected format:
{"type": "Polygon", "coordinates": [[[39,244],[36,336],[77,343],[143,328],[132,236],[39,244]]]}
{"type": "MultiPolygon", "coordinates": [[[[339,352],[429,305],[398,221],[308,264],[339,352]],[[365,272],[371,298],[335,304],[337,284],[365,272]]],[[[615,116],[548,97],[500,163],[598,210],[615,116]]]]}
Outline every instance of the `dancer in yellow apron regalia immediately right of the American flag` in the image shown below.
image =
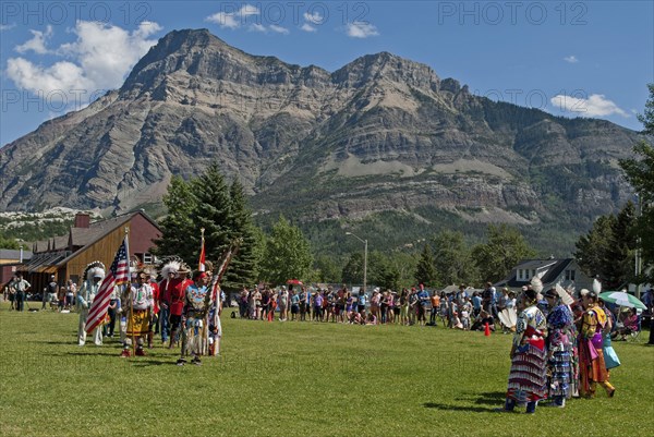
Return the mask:
{"type": "Polygon", "coordinates": [[[153,289],[143,270],[136,274],[136,284],[125,288],[123,302],[123,312],[128,317],[128,331],[121,356],[129,357],[131,355],[130,348],[133,347],[134,341],[136,341],[135,354],[143,356],[145,355],[144,338],[149,332],[155,305],[153,289]]]}

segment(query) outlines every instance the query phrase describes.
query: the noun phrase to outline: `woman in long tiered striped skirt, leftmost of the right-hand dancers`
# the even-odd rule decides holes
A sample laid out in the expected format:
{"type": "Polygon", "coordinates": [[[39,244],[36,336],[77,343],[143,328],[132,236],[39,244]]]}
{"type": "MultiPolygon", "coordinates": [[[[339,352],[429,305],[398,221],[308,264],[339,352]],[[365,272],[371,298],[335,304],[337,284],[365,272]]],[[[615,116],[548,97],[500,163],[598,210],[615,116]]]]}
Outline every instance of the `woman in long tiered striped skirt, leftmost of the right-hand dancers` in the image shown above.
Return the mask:
{"type": "MultiPolygon", "coordinates": [[[[542,284],[540,287],[542,289],[542,284]]],[[[517,403],[526,402],[526,413],[535,413],[537,402],[547,396],[547,327],[545,316],[536,306],[541,290],[534,288],[536,290],[528,289],[520,296],[524,309],[518,316],[513,335],[507,399],[498,411],[513,411],[517,403]]]]}

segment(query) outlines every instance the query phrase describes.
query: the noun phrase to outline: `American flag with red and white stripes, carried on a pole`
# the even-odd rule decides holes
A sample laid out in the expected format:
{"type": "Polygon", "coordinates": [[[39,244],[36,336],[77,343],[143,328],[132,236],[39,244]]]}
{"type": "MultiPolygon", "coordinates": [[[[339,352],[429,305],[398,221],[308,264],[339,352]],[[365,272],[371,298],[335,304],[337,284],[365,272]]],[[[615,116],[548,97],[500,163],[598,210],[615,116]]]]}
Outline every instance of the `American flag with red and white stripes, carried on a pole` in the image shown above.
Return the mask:
{"type": "Polygon", "coordinates": [[[86,332],[92,332],[107,315],[111,292],[114,286],[130,283],[130,263],[128,262],[128,235],[116,253],[113,263],[100,284],[86,316],[86,332]]]}

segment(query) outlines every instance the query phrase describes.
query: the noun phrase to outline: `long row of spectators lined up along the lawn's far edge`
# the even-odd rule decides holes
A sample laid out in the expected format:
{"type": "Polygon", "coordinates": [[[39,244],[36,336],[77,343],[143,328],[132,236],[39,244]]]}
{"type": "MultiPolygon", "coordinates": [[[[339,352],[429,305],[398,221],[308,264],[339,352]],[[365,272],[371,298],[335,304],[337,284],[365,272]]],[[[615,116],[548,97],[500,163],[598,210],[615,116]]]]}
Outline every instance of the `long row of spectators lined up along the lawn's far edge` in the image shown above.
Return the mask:
{"type": "Polygon", "coordinates": [[[457,291],[428,291],[423,284],[401,291],[352,292],[347,286],[243,288],[237,296],[239,316],[253,320],[319,321],[359,325],[438,326],[460,330],[495,330],[498,312],[516,307],[516,294],[460,286],[457,291]]]}

